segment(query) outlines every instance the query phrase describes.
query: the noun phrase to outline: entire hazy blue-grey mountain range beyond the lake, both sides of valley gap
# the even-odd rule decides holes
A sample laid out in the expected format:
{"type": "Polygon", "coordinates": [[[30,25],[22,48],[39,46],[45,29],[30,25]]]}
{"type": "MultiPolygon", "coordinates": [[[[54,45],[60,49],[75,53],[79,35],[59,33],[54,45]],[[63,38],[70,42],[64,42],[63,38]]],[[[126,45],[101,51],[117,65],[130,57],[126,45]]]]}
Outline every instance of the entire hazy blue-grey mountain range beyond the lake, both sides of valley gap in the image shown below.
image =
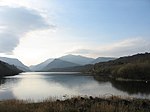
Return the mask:
{"type": "Polygon", "coordinates": [[[14,65],[18,69],[28,72],[28,71],[51,71],[52,69],[59,69],[62,70],[63,68],[72,68],[76,67],[81,68],[80,66],[84,66],[87,64],[95,64],[98,62],[106,62],[109,60],[114,60],[115,58],[109,58],[109,57],[99,57],[97,59],[84,57],[80,55],[65,55],[57,59],[49,58],[46,61],[33,65],[30,67],[27,67],[24,65],[21,61],[15,58],[6,58],[6,57],[0,57],[0,60],[3,62],[8,63],[9,65],[14,65]]]}

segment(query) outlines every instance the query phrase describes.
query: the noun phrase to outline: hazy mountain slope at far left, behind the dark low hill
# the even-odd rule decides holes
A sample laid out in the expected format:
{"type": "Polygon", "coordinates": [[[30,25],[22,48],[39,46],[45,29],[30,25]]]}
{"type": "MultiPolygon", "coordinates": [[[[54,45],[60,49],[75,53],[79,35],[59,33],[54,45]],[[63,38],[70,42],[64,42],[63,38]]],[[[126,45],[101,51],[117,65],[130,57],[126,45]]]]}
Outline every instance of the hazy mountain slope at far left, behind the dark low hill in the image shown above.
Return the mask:
{"type": "Polygon", "coordinates": [[[0,60],[3,62],[6,62],[10,65],[15,65],[18,69],[23,71],[30,71],[30,69],[25,66],[21,61],[15,58],[6,58],[6,57],[0,57],[0,60]]]}

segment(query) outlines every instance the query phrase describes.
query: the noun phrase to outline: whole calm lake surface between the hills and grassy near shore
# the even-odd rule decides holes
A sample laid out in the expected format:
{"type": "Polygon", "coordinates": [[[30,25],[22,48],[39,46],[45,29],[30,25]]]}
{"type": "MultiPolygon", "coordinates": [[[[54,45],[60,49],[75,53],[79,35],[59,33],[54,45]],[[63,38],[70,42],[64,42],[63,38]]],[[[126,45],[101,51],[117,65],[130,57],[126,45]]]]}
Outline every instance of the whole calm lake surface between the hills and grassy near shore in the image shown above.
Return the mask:
{"type": "Polygon", "coordinates": [[[119,95],[150,99],[150,83],[104,81],[85,74],[65,72],[27,72],[0,79],[0,100],[41,101],[79,95],[119,95]]]}

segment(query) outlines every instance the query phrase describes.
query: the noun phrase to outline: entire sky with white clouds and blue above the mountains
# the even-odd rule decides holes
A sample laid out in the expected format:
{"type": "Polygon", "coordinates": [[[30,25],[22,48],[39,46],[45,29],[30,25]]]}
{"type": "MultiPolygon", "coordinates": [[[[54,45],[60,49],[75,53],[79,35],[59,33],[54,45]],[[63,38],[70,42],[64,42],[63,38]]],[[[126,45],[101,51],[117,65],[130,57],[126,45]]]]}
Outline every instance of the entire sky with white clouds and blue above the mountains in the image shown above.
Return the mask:
{"type": "Polygon", "coordinates": [[[35,65],[150,52],[149,12],[150,0],[0,0],[0,56],[35,65]]]}

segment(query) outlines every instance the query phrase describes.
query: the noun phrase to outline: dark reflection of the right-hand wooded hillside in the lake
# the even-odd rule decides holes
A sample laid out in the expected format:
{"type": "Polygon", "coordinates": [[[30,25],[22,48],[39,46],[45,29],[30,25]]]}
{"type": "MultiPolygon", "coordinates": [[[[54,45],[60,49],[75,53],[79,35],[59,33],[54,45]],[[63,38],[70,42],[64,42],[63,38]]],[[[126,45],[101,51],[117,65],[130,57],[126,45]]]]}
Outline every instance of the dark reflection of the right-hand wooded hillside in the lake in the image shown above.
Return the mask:
{"type": "Polygon", "coordinates": [[[150,82],[145,81],[116,81],[107,77],[94,76],[94,79],[99,83],[110,82],[112,87],[123,92],[127,92],[129,95],[143,94],[150,95],[150,82]]]}

